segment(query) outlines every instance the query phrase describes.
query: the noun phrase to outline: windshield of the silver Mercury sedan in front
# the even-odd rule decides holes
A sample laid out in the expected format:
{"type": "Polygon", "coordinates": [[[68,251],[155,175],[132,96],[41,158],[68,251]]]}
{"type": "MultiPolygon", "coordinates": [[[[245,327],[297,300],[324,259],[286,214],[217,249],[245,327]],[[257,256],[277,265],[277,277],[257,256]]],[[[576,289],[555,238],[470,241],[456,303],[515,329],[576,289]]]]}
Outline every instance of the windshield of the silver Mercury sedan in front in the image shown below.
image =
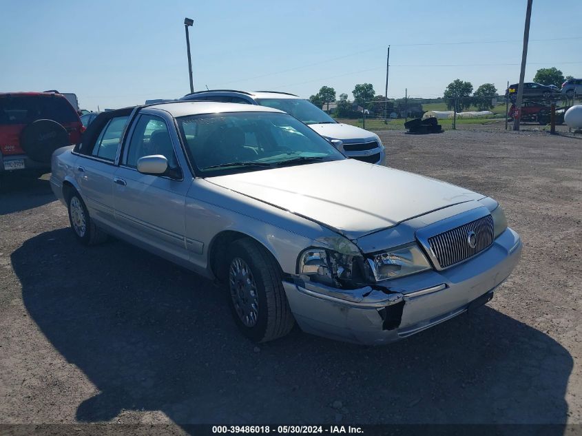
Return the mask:
{"type": "Polygon", "coordinates": [[[191,163],[205,177],[345,158],[287,114],[233,112],[177,121],[191,163]]]}

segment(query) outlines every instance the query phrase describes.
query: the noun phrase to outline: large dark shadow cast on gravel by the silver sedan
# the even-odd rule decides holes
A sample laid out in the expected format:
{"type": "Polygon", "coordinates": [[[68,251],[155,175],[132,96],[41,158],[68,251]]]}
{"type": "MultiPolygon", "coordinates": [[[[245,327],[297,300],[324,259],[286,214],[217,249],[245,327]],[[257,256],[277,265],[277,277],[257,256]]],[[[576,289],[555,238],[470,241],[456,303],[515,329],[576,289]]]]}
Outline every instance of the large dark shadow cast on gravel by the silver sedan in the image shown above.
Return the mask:
{"type": "Polygon", "coordinates": [[[14,251],[12,266],[41,332],[100,391],[79,404],[81,422],[131,411],[183,426],[567,418],[568,351],[490,307],[389,346],[295,329],[257,348],[225,293],[124,242],[86,248],[70,229],[49,231],[14,251]]]}

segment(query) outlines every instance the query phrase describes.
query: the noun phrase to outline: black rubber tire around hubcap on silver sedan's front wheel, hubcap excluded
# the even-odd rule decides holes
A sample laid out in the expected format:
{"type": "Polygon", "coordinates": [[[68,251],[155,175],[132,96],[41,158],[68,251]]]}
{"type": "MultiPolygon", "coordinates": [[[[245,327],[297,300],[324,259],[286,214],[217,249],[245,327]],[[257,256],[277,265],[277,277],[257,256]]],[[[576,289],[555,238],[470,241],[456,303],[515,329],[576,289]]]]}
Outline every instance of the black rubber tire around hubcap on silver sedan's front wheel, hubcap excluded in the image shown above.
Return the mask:
{"type": "Polygon", "coordinates": [[[230,245],[227,253],[229,253],[225,259],[227,277],[224,282],[229,294],[229,306],[240,331],[254,342],[267,342],[287,335],[293,329],[295,319],[287,302],[281,269],[275,258],[267,249],[250,238],[236,240],[230,245]],[[233,292],[231,287],[235,287],[236,283],[231,285],[230,272],[237,258],[248,265],[251,278],[256,284],[258,310],[256,324],[253,326],[247,326],[242,322],[231,296],[233,292]]]}

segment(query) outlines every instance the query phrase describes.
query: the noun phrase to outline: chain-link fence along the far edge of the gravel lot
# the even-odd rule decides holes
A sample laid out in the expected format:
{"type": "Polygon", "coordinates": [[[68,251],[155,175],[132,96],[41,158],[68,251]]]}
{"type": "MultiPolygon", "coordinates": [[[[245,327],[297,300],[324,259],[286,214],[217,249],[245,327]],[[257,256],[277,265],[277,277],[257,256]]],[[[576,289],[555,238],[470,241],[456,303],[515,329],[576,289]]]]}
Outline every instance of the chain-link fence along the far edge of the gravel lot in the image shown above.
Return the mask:
{"type": "MultiPolygon", "coordinates": [[[[581,101],[582,96],[555,94],[524,94],[521,122],[545,125],[550,123],[551,106],[556,108],[556,122],[563,123],[563,112],[581,101]]],[[[363,103],[337,101],[323,105],[335,120],[364,129],[404,129],[412,118],[434,116],[444,129],[463,125],[499,124],[505,128],[517,114],[515,94],[493,96],[463,96],[457,98],[384,98],[363,103]]]]}

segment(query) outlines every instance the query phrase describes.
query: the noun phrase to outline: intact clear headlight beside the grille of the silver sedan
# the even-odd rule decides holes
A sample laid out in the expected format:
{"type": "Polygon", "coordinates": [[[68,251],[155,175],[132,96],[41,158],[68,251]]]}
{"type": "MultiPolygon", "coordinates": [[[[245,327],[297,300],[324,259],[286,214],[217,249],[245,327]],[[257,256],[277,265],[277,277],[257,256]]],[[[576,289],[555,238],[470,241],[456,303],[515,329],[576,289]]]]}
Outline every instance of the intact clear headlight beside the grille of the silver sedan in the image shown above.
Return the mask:
{"type": "Polygon", "coordinates": [[[377,253],[368,259],[368,263],[377,282],[431,269],[426,256],[415,243],[377,253]]]}

